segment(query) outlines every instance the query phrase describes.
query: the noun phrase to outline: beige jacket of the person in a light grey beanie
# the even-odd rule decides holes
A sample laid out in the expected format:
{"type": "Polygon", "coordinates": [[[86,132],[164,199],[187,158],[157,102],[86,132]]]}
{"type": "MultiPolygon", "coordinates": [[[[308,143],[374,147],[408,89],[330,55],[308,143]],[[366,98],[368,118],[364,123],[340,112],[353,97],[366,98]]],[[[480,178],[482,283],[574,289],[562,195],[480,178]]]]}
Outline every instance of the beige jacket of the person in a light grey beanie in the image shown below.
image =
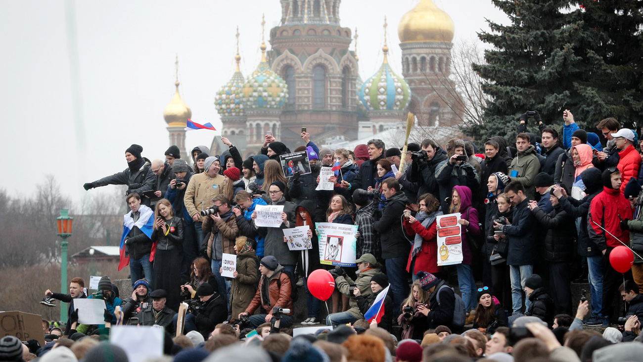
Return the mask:
{"type": "MultiPolygon", "coordinates": [[[[217,195],[226,195],[225,182],[226,178],[221,175],[210,177],[208,173],[202,172],[190,178],[190,182],[185,189],[183,202],[188,209],[190,216],[199,214],[203,209],[212,206],[212,200],[217,195]]],[[[199,221],[203,222],[203,217],[199,214],[199,221]]]]}

